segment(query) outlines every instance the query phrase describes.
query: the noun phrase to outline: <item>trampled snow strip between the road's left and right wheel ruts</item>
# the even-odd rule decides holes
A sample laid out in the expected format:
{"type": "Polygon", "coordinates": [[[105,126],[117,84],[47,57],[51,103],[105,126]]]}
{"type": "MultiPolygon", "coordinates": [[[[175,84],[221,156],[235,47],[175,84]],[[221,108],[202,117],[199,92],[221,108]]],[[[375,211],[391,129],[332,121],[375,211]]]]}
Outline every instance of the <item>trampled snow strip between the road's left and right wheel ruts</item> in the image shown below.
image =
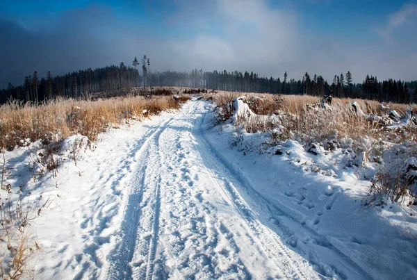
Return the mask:
{"type": "Polygon", "coordinates": [[[197,103],[193,102],[188,113],[182,115],[183,120],[172,123],[172,129],[167,129],[161,137],[161,151],[170,155],[164,160],[163,168],[170,170],[164,173],[170,175],[164,177],[170,182],[166,184],[164,204],[170,206],[165,208],[164,217],[169,222],[163,226],[165,236],[162,239],[163,252],[160,252],[165,262],[158,266],[156,277],[164,278],[164,268],[166,274],[166,268],[172,267],[169,277],[174,279],[250,279],[253,276],[240,259],[234,233],[224,226],[215,208],[202,198],[205,189],[199,186],[198,176],[197,179],[193,176],[194,161],[199,160],[199,154],[193,145],[188,144],[193,138],[190,129],[195,124],[196,113],[199,113],[196,106],[197,103]],[[186,147],[181,142],[185,142],[186,147]],[[177,177],[176,174],[181,175],[177,177]]]}

